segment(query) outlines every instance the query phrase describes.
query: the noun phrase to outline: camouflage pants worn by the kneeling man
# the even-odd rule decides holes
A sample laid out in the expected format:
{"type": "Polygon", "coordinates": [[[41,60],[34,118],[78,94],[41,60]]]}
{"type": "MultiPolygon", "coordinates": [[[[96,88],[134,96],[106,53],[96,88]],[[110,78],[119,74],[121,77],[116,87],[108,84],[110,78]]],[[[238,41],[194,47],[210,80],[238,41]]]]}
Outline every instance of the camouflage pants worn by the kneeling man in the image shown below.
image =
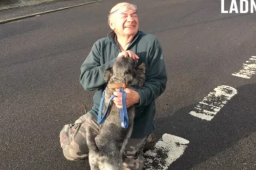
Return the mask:
{"type": "MultiPolygon", "coordinates": [[[[60,131],[60,145],[64,156],[68,160],[84,160],[88,156],[86,124],[90,125],[96,132],[99,131],[96,117],[91,113],[82,115],[74,124],[67,124],[60,131]]],[[[124,162],[126,162],[131,170],[142,170],[144,162],[142,149],[145,141],[146,137],[142,139],[128,139],[124,150],[124,162]]]]}

